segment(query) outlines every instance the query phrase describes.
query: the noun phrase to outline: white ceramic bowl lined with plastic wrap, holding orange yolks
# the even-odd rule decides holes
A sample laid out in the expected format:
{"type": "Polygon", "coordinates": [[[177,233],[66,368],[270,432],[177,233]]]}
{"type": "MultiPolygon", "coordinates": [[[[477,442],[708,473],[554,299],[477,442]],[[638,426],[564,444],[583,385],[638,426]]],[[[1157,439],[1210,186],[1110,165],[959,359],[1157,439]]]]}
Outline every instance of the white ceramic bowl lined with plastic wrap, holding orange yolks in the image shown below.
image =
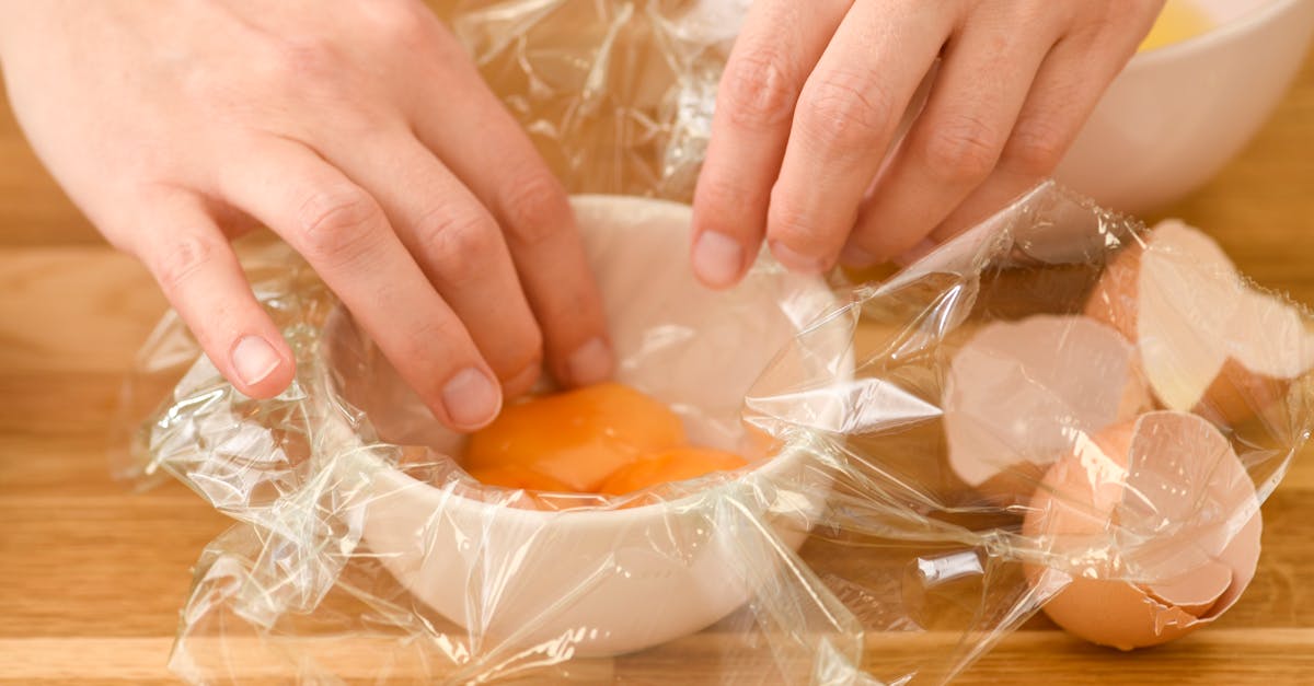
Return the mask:
{"type": "MultiPolygon", "coordinates": [[[[819,279],[763,265],[738,288],[714,293],[689,268],[687,206],[594,196],[576,198],[574,208],[620,357],[616,377],[669,403],[691,440],[749,451],[744,396],[777,352],[834,305],[830,290],[819,279]]],[[[346,325],[347,317],[331,317],[325,340],[351,338],[335,331],[346,325]]],[[[851,378],[850,346],[832,343],[824,346],[830,354],[786,359],[800,378],[824,373],[844,384],[851,378]]],[[[389,394],[380,396],[392,397],[385,403],[410,402],[389,394]]],[[[811,398],[800,402],[816,406],[803,411],[821,422],[838,411],[827,393],[811,398]]],[[[415,424],[417,413],[388,414],[394,434],[427,432],[424,443],[460,449],[432,419],[415,431],[406,424],[415,424]]],[[[480,641],[472,649],[485,653],[612,654],[712,624],[761,583],[778,582],[787,559],[779,545],[802,544],[829,490],[807,449],[790,446],[737,478],[662,505],[514,509],[413,480],[361,446],[346,419],[326,432],[339,448],[332,469],[343,499],[360,503],[369,553],[417,599],[466,627],[480,641]],[[763,534],[770,530],[778,539],[763,534]]]]}

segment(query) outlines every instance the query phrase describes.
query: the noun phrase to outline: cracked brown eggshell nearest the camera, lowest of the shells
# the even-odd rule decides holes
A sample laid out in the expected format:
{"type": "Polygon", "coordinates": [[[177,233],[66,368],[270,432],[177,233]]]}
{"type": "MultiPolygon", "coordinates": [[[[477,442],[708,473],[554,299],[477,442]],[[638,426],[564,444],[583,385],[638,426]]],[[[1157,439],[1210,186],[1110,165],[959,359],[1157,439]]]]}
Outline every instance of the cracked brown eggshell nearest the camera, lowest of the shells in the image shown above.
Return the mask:
{"type": "Polygon", "coordinates": [[[1074,635],[1123,651],[1167,643],[1221,616],[1254,578],[1257,507],[1254,484],[1217,428],[1187,413],[1147,413],[1100,432],[1046,473],[1024,532],[1056,553],[1083,555],[1085,566],[1026,565],[1026,576],[1035,587],[1062,587],[1045,612],[1074,635]],[[1234,532],[1229,515],[1247,509],[1254,514],[1234,532]],[[1179,528],[1162,531],[1164,523],[1179,528]],[[1113,555],[1091,559],[1089,547],[1106,543],[1109,531],[1134,545],[1137,576],[1164,581],[1106,578],[1129,565],[1113,555]]]}

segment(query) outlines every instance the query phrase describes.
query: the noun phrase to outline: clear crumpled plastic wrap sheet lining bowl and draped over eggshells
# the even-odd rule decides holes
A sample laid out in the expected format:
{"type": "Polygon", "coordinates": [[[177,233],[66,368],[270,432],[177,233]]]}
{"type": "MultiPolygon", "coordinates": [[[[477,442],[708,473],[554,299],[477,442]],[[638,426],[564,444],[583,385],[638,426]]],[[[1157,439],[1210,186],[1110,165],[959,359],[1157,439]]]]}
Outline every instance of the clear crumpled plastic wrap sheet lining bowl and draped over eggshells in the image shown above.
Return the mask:
{"type": "MultiPolygon", "coordinates": [[[[679,200],[731,5],[524,0],[447,16],[573,191],[679,200]]],[[[181,678],[942,683],[1092,580],[1152,591],[1164,607],[1148,631],[1163,635],[1196,616],[1166,595],[1257,536],[1259,505],[1314,424],[1307,373],[1234,393],[1252,417],[1164,413],[1171,394],[1148,392],[1143,369],[1163,340],[1131,340],[1137,294],[1109,288],[1147,234],[1053,184],[883,283],[800,277],[763,255],[725,293],[689,272],[686,206],[574,205],[618,378],[750,467],[625,497],[484,486],[461,469],[461,436],[314,273],[285,246],[251,247],[293,385],[243,397],[171,314],[125,394],[133,413],[171,386],[118,472],[172,476],[234,519],[183,606],[181,678]],[[1105,323],[1083,315],[1092,302],[1105,323]],[[1010,329],[1034,322],[1047,329],[1010,329]],[[1131,421],[1120,463],[1109,430],[1131,421]]],[[[1183,273],[1213,268],[1181,258],[1183,273]]],[[[1169,343],[1183,360],[1215,347],[1169,343]]]]}

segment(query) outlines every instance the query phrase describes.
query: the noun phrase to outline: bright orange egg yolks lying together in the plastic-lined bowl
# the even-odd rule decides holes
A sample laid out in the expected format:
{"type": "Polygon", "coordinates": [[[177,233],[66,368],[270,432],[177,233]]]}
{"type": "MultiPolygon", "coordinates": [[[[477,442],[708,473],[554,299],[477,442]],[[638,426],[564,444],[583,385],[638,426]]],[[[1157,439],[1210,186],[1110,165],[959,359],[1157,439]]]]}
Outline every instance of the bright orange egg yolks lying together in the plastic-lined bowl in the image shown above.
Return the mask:
{"type": "Polygon", "coordinates": [[[608,495],[745,464],[689,446],[675,413],[622,384],[510,405],[470,436],[465,452],[465,470],[484,484],[608,495]]]}

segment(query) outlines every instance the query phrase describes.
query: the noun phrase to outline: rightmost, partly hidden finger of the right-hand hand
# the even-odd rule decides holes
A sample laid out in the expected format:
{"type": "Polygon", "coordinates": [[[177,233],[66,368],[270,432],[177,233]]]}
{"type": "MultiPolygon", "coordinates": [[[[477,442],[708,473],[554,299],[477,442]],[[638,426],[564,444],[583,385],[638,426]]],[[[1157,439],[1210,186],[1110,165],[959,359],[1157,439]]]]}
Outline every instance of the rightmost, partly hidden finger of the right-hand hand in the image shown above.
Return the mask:
{"type": "Polygon", "coordinates": [[[999,164],[930,238],[943,242],[970,229],[1047,179],[1152,21],[1148,12],[1130,30],[1059,39],[1035,74],[999,164]]]}

